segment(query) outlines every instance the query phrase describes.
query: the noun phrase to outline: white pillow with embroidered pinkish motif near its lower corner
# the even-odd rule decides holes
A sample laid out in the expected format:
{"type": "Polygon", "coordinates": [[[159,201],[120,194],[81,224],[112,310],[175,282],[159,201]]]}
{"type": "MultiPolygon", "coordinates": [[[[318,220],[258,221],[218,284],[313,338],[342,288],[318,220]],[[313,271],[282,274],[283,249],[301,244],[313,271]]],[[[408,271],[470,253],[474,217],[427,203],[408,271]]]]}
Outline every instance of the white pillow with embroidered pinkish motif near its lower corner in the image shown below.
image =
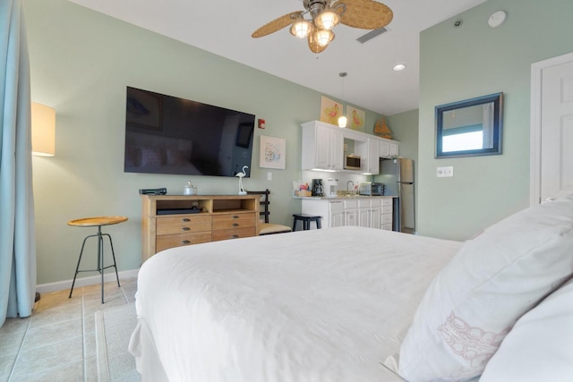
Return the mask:
{"type": "Polygon", "coordinates": [[[571,275],[572,261],[573,195],[465,242],[426,290],[398,373],[411,382],[479,376],[517,318],[571,275]]]}

